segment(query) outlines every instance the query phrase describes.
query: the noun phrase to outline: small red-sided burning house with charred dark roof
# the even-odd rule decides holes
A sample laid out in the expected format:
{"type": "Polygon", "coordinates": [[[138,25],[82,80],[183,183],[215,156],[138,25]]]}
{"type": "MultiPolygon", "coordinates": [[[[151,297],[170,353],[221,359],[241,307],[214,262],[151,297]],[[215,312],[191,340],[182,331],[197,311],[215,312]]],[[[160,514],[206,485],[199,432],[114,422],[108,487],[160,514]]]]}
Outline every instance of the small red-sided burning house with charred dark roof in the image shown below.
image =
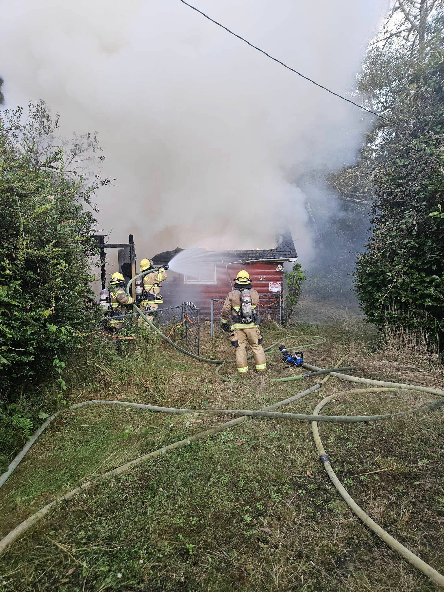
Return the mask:
{"type": "MultiPolygon", "coordinates": [[[[259,295],[275,293],[282,295],[284,285],[284,264],[295,262],[297,252],[291,233],[282,235],[274,249],[207,251],[193,249],[191,258],[195,263],[184,266],[179,272],[168,272],[168,280],[163,282],[162,297],[164,307],[193,302],[201,310],[203,317],[210,314],[211,298],[225,298],[232,289],[233,278],[240,269],[250,274],[259,295]],[[182,272],[181,272],[182,271],[182,272]]],[[[176,248],[158,253],[152,260],[154,265],[165,265],[177,260],[180,253],[188,249],[176,248]]],[[[175,267],[172,266],[172,271],[175,267]]]]}

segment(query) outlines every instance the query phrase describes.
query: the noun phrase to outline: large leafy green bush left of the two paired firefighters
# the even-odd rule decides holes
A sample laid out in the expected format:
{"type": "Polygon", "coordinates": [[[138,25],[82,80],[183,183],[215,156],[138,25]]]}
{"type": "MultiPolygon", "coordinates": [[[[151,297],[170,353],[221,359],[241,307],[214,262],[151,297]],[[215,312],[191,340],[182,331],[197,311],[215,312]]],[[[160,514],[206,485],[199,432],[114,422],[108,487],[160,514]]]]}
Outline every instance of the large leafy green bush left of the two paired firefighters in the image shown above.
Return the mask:
{"type": "MultiPolygon", "coordinates": [[[[14,400],[54,372],[88,330],[95,219],[88,184],[72,170],[98,148],[95,137],[66,149],[43,102],[0,114],[0,392],[14,400]]],[[[17,418],[16,418],[17,419],[17,418]]]]}

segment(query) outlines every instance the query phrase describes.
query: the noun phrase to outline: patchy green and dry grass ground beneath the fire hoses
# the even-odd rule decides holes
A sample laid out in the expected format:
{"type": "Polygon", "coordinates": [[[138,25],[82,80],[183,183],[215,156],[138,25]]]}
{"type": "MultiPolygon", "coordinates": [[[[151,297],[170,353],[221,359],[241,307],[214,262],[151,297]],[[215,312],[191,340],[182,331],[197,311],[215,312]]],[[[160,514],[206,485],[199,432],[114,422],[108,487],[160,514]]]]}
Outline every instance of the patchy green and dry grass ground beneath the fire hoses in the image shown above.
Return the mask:
{"type": "MultiPolygon", "coordinates": [[[[268,329],[265,345],[306,333],[327,337],[305,352],[309,363],[327,367],[347,356],[345,363],[358,365],[362,376],[444,383],[437,361],[378,351],[377,336],[360,321],[268,329]]],[[[227,340],[202,341],[205,352],[233,356],[227,340]]],[[[107,398],[191,411],[67,410],[2,489],[2,536],[79,482],[227,419],[201,417],[193,408],[260,408],[317,382],[272,384],[254,371],[240,383],[221,382],[213,366],[146,336],[119,353],[111,347],[84,355],[68,377],[70,401],[107,398]]],[[[276,353],[268,361],[268,377],[289,374],[276,353]]],[[[223,372],[236,377],[233,364],[223,372]]],[[[282,410],[310,413],[326,395],[352,388],[332,378],[282,410]]],[[[429,400],[432,395],[411,391],[348,395],[324,411],[384,413],[429,400]]],[[[320,424],[326,451],[352,497],[441,572],[442,418],[437,410],[378,423],[320,424]]],[[[2,592],[436,590],[351,513],[318,461],[310,424],[269,418],[246,420],[96,485],[62,504],[0,561],[2,592]]]]}

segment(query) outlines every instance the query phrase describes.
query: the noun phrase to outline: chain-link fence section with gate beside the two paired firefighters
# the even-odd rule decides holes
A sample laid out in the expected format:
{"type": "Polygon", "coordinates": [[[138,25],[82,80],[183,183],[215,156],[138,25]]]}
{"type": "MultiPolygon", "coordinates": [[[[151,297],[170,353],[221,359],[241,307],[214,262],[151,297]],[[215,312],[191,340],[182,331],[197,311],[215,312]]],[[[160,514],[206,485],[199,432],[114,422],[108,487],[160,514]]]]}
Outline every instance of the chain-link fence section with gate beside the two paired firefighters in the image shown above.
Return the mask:
{"type": "MultiPolygon", "coordinates": [[[[187,349],[191,353],[200,355],[201,352],[201,323],[200,310],[192,302],[184,302],[178,306],[157,308],[157,310],[146,311],[146,316],[150,318],[153,324],[162,331],[170,340],[187,349]]],[[[123,321],[123,334],[131,329],[131,323],[134,317],[139,313],[116,314],[110,318],[112,320],[123,321]]],[[[146,326],[146,323],[141,320],[146,326]]],[[[108,327],[107,317],[104,317],[101,324],[103,332],[112,331],[108,327]],[[108,329],[107,329],[108,328],[108,329]]],[[[106,333],[105,333],[106,334],[106,333]]],[[[111,334],[111,337],[118,333],[111,334]]]]}

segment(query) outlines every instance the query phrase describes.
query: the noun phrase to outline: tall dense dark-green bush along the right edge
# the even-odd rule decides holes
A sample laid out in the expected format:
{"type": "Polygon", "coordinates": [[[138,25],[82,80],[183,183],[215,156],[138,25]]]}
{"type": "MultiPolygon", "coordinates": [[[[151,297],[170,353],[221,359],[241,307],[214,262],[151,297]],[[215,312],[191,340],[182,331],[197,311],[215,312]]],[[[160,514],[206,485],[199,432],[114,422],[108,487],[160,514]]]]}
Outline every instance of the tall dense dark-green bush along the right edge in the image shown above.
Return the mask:
{"type": "Polygon", "coordinates": [[[444,348],[444,52],[416,67],[374,173],[374,233],[355,288],[368,320],[444,348]]]}

